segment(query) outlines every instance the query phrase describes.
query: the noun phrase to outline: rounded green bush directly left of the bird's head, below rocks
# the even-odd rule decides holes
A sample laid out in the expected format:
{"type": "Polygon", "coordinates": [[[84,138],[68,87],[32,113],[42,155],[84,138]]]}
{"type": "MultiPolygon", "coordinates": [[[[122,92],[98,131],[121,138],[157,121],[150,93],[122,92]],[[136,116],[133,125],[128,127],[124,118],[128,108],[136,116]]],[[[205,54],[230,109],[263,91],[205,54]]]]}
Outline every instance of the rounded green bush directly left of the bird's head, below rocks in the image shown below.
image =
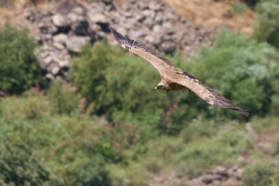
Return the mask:
{"type": "Polygon", "coordinates": [[[114,123],[159,125],[163,111],[183,95],[155,91],[160,81],[156,69],[107,42],[86,47],[73,60],[70,75],[89,100],[87,110],[114,123]]]}

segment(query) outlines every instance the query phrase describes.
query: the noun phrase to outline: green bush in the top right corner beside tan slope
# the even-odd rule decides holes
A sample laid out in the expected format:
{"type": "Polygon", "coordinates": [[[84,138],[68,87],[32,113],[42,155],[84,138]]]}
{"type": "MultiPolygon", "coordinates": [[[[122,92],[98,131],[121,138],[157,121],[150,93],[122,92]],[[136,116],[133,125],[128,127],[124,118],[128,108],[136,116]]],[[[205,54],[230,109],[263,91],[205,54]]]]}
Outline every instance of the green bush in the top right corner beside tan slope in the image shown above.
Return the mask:
{"type": "Polygon", "coordinates": [[[257,13],[259,24],[255,31],[255,38],[279,48],[279,1],[260,1],[257,4],[257,13]]]}

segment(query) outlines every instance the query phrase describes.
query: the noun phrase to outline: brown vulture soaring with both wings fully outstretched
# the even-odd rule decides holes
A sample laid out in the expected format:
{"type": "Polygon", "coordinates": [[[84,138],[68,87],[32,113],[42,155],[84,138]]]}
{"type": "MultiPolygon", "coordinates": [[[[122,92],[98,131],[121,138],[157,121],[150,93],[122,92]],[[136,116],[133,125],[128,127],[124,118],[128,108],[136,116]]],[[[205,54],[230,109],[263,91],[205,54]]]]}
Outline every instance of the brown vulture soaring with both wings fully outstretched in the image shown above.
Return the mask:
{"type": "Polygon", "coordinates": [[[110,31],[121,47],[127,49],[128,52],[145,59],[158,70],[161,81],[156,85],[155,89],[163,91],[179,91],[189,89],[199,98],[211,105],[224,109],[232,109],[234,111],[238,111],[244,116],[249,115],[247,111],[241,109],[240,107],[236,107],[236,105],[227,100],[227,98],[223,97],[212,88],[199,82],[199,80],[193,77],[193,75],[176,68],[172,63],[165,59],[165,57],[158,54],[158,52],[155,52],[153,49],[150,49],[135,40],[122,36],[112,27],[110,27],[110,31]]]}

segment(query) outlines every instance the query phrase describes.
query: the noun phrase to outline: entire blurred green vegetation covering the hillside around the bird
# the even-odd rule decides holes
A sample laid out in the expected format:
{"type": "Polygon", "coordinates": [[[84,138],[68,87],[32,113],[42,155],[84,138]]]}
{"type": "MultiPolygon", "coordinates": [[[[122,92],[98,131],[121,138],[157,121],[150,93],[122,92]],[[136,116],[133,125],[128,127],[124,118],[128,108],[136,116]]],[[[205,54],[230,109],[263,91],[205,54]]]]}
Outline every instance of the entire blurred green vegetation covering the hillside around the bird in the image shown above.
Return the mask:
{"type": "Polygon", "coordinates": [[[173,173],[166,185],[191,185],[216,166],[238,166],[234,185],[279,185],[279,1],[248,3],[259,17],[252,36],[223,29],[192,58],[167,58],[249,118],[188,91],[154,91],[156,69],[106,40],[84,46],[66,79],[45,82],[36,42],[6,24],[0,184],[144,186],[173,173]]]}

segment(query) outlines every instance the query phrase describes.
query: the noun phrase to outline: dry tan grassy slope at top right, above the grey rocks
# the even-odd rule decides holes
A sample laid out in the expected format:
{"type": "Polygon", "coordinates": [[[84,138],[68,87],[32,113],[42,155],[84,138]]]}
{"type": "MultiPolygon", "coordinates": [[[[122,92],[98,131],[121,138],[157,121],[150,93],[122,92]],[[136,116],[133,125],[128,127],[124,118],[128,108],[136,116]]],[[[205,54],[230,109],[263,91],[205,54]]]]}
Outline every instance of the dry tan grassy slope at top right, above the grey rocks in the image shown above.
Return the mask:
{"type": "MultiPolygon", "coordinates": [[[[234,13],[232,6],[243,5],[239,0],[163,0],[176,13],[204,27],[220,28],[229,26],[242,33],[252,33],[252,26],[257,17],[248,7],[245,13],[234,13]]],[[[245,6],[245,5],[243,5],[245,6]]]]}

